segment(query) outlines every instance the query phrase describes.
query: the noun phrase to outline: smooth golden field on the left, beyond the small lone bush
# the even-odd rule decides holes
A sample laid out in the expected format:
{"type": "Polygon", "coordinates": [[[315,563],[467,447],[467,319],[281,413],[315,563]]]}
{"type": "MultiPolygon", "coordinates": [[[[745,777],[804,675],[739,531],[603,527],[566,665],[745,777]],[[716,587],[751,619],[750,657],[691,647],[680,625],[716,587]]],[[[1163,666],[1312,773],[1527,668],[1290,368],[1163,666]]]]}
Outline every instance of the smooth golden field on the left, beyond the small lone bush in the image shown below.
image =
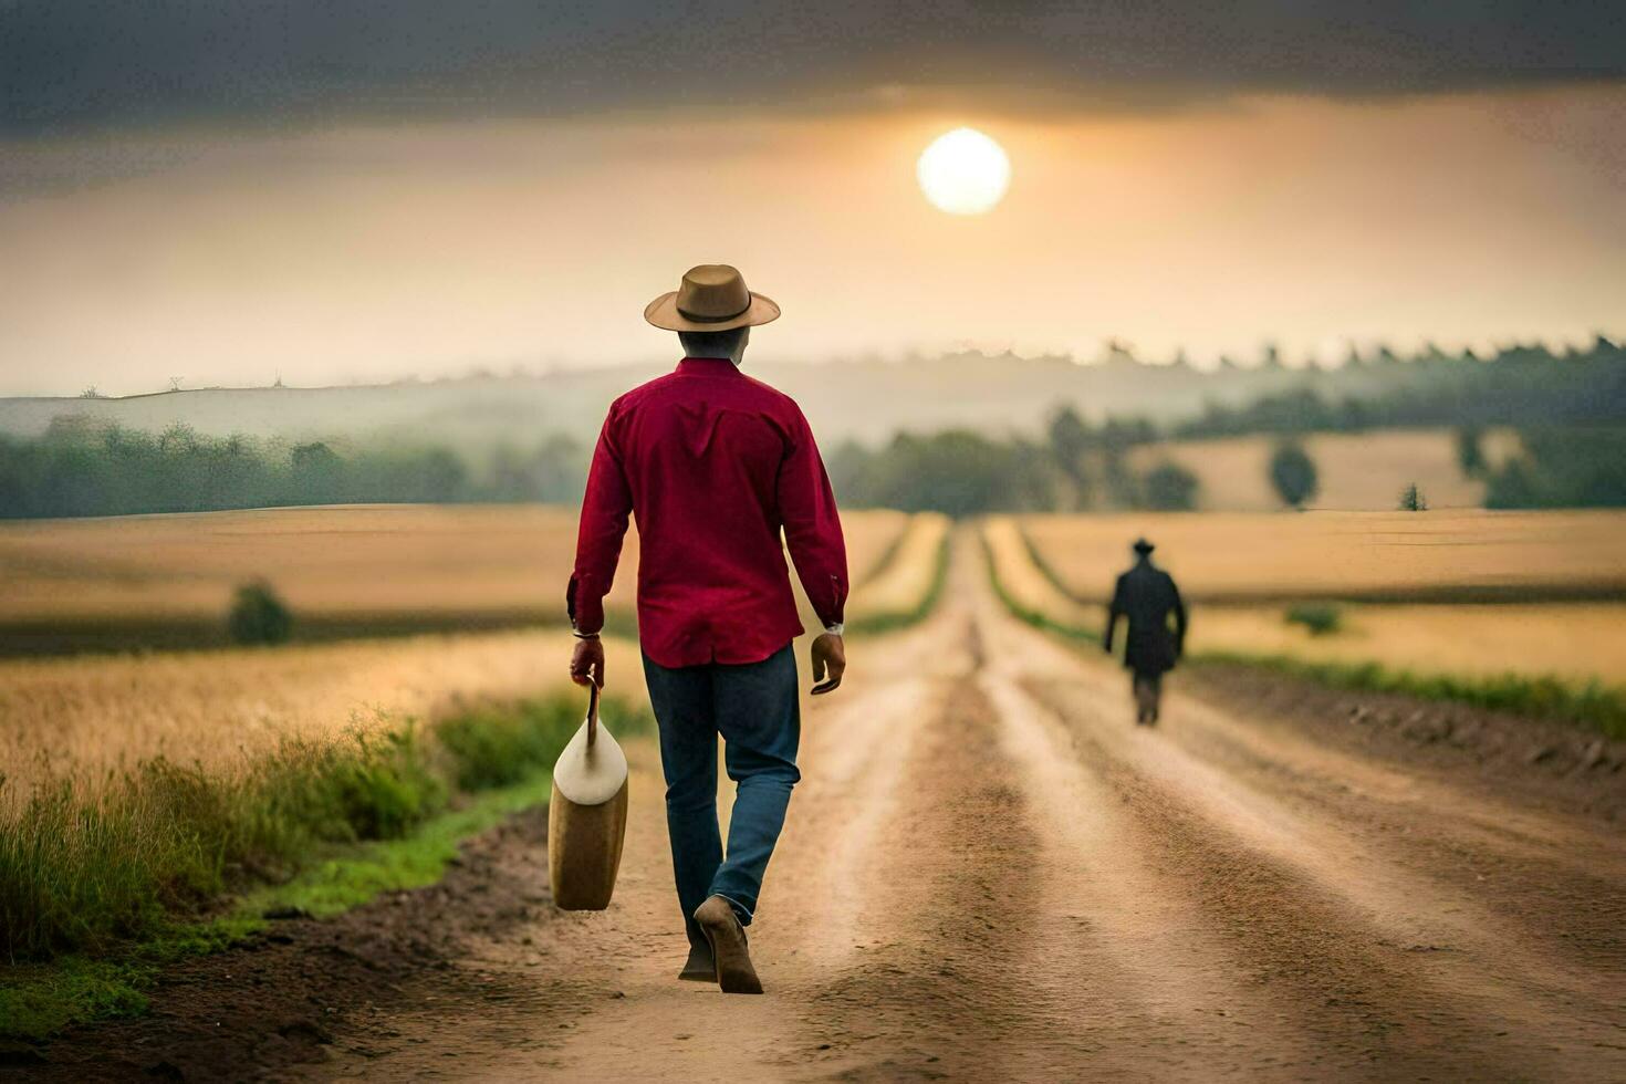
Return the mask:
{"type": "MultiPolygon", "coordinates": [[[[854,575],[901,512],[844,517],[854,575]]],[[[340,505],[0,523],[0,622],[211,618],[265,579],[296,614],[519,613],[564,619],[576,510],[548,505],[340,505]]],[[[611,609],[631,609],[637,531],[611,609]]]]}

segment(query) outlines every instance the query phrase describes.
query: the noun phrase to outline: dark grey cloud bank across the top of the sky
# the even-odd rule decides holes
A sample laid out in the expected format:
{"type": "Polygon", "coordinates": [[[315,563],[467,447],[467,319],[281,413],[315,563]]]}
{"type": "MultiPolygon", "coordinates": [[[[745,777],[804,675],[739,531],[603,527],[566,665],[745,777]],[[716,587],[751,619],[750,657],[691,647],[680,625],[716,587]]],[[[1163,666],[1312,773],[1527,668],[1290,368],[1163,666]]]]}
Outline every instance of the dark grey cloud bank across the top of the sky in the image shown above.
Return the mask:
{"type": "Polygon", "coordinates": [[[1619,0],[0,0],[0,133],[171,120],[1158,107],[1626,75],[1619,0]]]}

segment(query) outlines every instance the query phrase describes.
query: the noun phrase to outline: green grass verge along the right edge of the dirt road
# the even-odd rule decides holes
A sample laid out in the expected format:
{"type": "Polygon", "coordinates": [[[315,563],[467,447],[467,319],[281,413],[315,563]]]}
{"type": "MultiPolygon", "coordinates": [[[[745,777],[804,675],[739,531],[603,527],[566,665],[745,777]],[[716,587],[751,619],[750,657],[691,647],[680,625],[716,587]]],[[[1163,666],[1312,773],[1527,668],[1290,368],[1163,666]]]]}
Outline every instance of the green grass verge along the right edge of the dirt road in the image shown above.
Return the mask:
{"type": "MultiPolygon", "coordinates": [[[[1050,580],[1063,596],[1072,596],[1067,585],[1044,562],[1034,549],[1033,541],[1023,535],[1028,553],[1039,572],[1050,580]]],[[[1059,637],[1078,644],[1101,644],[1101,637],[1091,629],[1055,621],[1049,614],[1023,606],[1000,582],[993,554],[984,541],[984,556],[989,570],[989,582],[1005,608],[1020,621],[1034,629],[1052,632],[1059,637]]],[[[1537,718],[1553,718],[1577,723],[1595,730],[1608,738],[1626,739],[1626,689],[1606,686],[1600,681],[1567,681],[1556,676],[1524,676],[1524,674],[1418,674],[1408,670],[1395,670],[1382,663],[1335,663],[1294,658],[1291,655],[1265,655],[1250,652],[1198,652],[1187,657],[1195,663],[1229,663],[1242,666],[1259,666],[1280,674],[1315,681],[1337,689],[1358,692],[1395,692],[1411,696],[1419,700],[1450,700],[1472,704],[1493,712],[1512,715],[1528,715],[1537,718]]]]}

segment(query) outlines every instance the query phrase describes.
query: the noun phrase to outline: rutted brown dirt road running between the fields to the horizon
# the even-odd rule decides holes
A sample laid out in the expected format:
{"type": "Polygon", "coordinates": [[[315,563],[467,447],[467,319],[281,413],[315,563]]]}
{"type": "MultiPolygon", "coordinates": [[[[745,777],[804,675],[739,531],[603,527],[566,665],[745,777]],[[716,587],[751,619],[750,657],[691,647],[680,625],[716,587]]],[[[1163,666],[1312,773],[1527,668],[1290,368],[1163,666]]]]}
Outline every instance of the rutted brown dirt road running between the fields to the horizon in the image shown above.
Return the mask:
{"type": "Polygon", "coordinates": [[[525,998],[374,1021],[314,1079],[1623,1079],[1618,827],[941,613],[805,723],[753,930],[766,998],[675,982],[659,767],[616,905],[457,964],[525,998]]]}

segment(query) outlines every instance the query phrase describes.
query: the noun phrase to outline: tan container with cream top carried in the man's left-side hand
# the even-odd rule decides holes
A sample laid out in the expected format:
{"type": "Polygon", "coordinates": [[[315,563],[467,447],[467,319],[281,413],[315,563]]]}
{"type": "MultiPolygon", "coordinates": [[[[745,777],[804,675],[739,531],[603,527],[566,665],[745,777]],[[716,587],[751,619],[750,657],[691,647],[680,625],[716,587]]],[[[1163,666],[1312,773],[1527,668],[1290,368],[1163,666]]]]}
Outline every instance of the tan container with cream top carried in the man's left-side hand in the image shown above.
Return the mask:
{"type": "Polygon", "coordinates": [[[587,722],[553,765],[548,874],[563,910],[603,910],[615,892],[626,840],[626,754],[598,723],[598,687],[587,722]]]}

